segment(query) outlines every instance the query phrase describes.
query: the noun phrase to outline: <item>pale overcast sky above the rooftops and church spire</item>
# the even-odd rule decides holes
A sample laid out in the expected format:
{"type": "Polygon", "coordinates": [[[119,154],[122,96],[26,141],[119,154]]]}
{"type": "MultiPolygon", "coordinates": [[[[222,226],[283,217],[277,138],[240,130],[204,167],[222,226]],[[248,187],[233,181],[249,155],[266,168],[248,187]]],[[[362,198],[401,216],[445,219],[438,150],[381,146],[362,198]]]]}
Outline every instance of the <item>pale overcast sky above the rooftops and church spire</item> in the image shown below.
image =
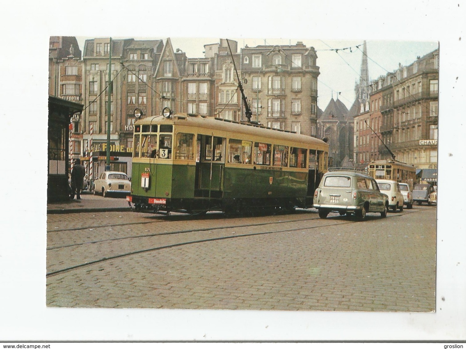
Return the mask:
{"type": "MultiPolygon", "coordinates": [[[[296,35],[297,33],[293,33],[296,35]]],[[[83,50],[84,41],[94,37],[77,37],[79,48],[83,50]]],[[[118,36],[113,39],[131,38],[132,36],[118,36]]],[[[166,37],[132,37],[136,40],[162,39],[166,43],[166,37]]],[[[219,38],[182,38],[170,36],[173,49],[181,49],[189,58],[204,57],[204,45],[219,42],[219,38]]],[[[361,60],[363,56],[363,42],[359,40],[330,40],[315,39],[309,37],[297,37],[295,39],[260,39],[260,38],[228,38],[238,42],[238,52],[245,45],[255,47],[258,45],[295,45],[302,41],[307,47],[314,47],[317,52],[317,65],[320,67],[318,77],[318,101],[319,108],[324,110],[330,99],[338,98],[349,109],[354,102],[355,82],[359,82],[361,73],[361,60]],[[338,49],[338,50],[337,50],[338,49]],[[340,92],[340,94],[338,94],[340,92]]],[[[393,40],[367,40],[367,56],[369,63],[369,77],[376,79],[389,71],[398,68],[398,64],[409,65],[417,56],[424,56],[439,48],[435,41],[393,41],[393,40]]],[[[237,62],[239,65],[239,62],[237,62]]],[[[248,96],[251,99],[250,96],[248,96]]]]}

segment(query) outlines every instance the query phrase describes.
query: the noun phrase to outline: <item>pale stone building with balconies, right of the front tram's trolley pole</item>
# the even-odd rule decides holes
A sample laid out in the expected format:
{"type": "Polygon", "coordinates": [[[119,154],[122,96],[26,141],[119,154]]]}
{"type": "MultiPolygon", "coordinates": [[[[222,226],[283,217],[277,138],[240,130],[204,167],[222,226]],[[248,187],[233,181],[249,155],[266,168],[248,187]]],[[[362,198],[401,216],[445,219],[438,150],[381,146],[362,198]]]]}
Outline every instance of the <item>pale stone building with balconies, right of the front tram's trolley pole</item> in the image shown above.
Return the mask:
{"type": "Polygon", "coordinates": [[[302,42],[241,49],[238,69],[244,79],[252,120],[315,136],[320,74],[316,60],[315,49],[302,42]]]}

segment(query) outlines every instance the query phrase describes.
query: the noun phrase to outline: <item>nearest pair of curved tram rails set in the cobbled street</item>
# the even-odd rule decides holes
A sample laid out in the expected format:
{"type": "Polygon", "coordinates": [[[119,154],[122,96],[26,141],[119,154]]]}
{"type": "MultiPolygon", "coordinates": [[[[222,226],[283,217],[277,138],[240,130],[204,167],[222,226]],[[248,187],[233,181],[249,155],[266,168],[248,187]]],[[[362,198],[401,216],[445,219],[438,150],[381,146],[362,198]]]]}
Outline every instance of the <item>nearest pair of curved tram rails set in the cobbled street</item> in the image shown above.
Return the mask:
{"type": "MultiPolygon", "coordinates": [[[[399,216],[399,215],[391,215],[391,217],[394,216],[399,216]]],[[[390,219],[389,217],[387,217],[390,219]]],[[[386,218],[386,219],[387,219],[386,218]]],[[[174,232],[167,232],[163,234],[148,234],[144,235],[144,237],[156,237],[156,236],[161,236],[161,235],[172,235],[172,234],[180,234],[180,233],[189,233],[189,232],[202,232],[202,231],[212,231],[212,230],[221,230],[221,229],[232,229],[232,228],[241,228],[241,227],[251,227],[251,226],[264,226],[264,225],[270,225],[270,224],[284,224],[284,223],[292,223],[292,222],[299,222],[299,221],[304,221],[304,220],[318,220],[319,218],[309,218],[309,219],[300,219],[300,220],[288,220],[288,221],[281,221],[281,222],[271,222],[271,223],[258,223],[258,224],[241,224],[241,225],[234,225],[234,226],[225,226],[225,227],[217,227],[217,228],[209,228],[209,229],[196,229],[196,230],[183,230],[183,231],[174,231],[174,232]]],[[[164,244],[164,245],[159,245],[156,247],[151,247],[147,249],[139,249],[136,251],[128,251],[124,253],[119,253],[113,256],[108,256],[108,257],[103,257],[99,259],[94,259],[94,260],[89,260],[84,263],[76,264],[76,265],[71,265],[62,269],[58,269],[55,271],[51,271],[46,273],[46,277],[52,277],[57,274],[69,272],[78,268],[82,268],[85,266],[89,265],[95,265],[98,263],[103,263],[112,259],[117,259],[117,258],[124,258],[128,257],[131,255],[139,254],[139,253],[146,253],[146,252],[151,252],[151,251],[158,251],[158,250],[164,250],[164,249],[169,249],[173,247],[179,247],[179,246],[184,246],[184,245],[190,245],[190,244],[200,244],[200,243],[205,243],[205,242],[212,242],[212,241],[220,241],[220,240],[226,240],[226,239],[232,239],[232,238],[241,238],[241,237],[251,237],[251,236],[259,236],[259,235],[267,235],[267,234],[278,234],[278,233],[284,233],[284,232],[291,232],[291,231],[298,231],[298,230],[308,230],[308,229],[316,229],[316,228],[322,228],[322,227],[331,227],[331,226],[336,226],[336,225],[346,225],[346,224],[353,224],[353,223],[361,223],[360,221],[331,221],[331,220],[325,220],[325,222],[328,222],[329,224],[324,224],[324,225],[317,225],[317,226],[306,226],[306,227],[299,227],[295,229],[285,229],[285,230],[273,230],[273,231],[262,231],[262,232],[248,232],[245,234],[230,234],[230,235],[225,235],[225,236],[219,236],[219,237],[210,237],[210,238],[201,238],[201,239],[195,239],[195,240],[188,240],[188,241],[182,241],[182,242],[177,242],[174,244],[164,244]]],[[[116,239],[107,239],[99,242],[110,242],[110,241],[115,241],[118,239],[127,239],[127,238],[142,238],[143,236],[135,236],[135,237],[124,237],[124,238],[116,238],[116,239]]],[[[96,242],[97,243],[97,242],[96,242]]],[[[84,243],[84,244],[89,244],[89,243],[84,243]]],[[[62,246],[62,247],[57,247],[57,248],[65,248],[68,246],[62,246]]],[[[57,249],[55,248],[55,249],[57,249]]]]}

